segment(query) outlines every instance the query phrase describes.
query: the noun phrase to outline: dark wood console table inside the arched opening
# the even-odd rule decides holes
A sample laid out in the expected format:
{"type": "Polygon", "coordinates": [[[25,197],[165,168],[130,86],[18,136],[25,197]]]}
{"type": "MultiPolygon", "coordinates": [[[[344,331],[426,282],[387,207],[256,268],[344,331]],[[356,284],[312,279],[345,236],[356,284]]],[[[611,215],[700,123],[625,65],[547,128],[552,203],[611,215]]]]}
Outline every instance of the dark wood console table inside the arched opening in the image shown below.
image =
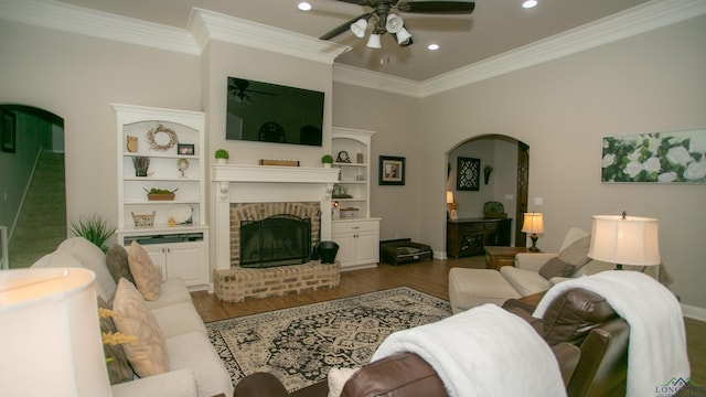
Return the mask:
{"type": "Polygon", "coordinates": [[[447,221],[446,251],[461,258],[485,253],[484,246],[510,246],[512,218],[463,218],[447,221]]]}

